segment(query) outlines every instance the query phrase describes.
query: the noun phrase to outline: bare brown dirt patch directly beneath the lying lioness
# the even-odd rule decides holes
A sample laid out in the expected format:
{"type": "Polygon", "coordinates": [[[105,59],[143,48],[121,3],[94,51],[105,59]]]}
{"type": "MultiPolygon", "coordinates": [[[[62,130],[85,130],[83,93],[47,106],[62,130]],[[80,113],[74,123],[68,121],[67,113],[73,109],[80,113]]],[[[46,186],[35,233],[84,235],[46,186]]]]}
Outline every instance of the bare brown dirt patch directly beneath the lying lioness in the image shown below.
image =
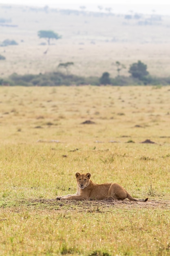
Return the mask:
{"type": "Polygon", "coordinates": [[[148,200],[147,202],[131,202],[129,200],[84,200],[84,201],[61,201],[56,199],[35,199],[20,201],[20,207],[31,208],[32,210],[46,211],[78,211],[78,212],[106,212],[112,209],[170,209],[170,200],[148,200]]]}

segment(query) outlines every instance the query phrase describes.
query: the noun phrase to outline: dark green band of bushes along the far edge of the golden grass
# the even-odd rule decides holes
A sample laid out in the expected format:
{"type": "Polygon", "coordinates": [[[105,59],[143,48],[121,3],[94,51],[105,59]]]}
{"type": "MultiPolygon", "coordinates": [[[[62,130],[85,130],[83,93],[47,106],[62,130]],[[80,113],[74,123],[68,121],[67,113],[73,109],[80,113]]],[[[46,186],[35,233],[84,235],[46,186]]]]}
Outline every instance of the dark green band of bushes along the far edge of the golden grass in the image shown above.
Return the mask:
{"type": "Polygon", "coordinates": [[[153,77],[144,76],[141,79],[133,76],[116,76],[109,77],[109,73],[105,72],[101,77],[76,76],[73,74],[64,74],[62,72],[49,72],[45,74],[12,74],[7,79],[1,78],[0,85],[21,85],[21,86],[60,86],[60,85],[170,85],[169,77],[153,77]],[[105,77],[105,75],[107,76],[105,77]],[[106,80],[104,80],[106,79],[106,80]]]}

